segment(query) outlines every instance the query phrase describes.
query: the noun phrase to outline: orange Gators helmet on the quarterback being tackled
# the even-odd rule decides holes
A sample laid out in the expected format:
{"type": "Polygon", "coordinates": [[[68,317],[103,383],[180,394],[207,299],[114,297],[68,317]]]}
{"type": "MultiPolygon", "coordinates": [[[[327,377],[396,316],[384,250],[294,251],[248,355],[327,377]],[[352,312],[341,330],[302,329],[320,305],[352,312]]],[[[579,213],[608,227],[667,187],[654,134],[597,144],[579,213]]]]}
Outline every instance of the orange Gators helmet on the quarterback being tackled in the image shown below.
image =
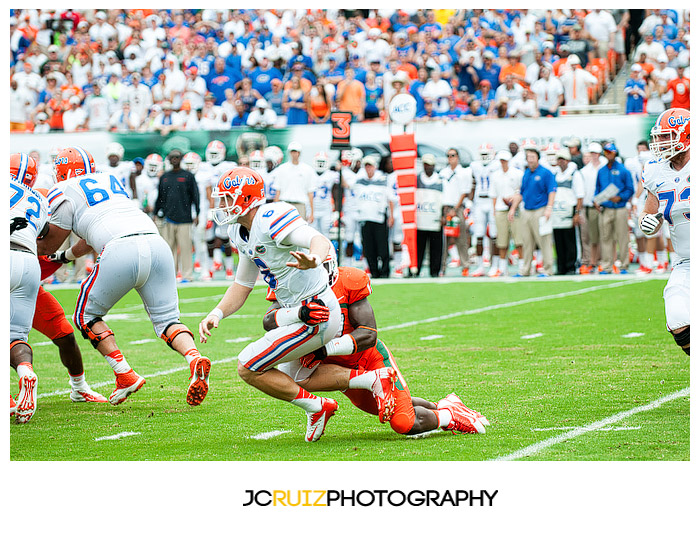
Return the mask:
{"type": "Polygon", "coordinates": [[[265,185],[257,171],[235,167],[221,176],[211,196],[220,200],[214,221],[218,225],[236,223],[251,209],[265,203],[265,185]]]}

